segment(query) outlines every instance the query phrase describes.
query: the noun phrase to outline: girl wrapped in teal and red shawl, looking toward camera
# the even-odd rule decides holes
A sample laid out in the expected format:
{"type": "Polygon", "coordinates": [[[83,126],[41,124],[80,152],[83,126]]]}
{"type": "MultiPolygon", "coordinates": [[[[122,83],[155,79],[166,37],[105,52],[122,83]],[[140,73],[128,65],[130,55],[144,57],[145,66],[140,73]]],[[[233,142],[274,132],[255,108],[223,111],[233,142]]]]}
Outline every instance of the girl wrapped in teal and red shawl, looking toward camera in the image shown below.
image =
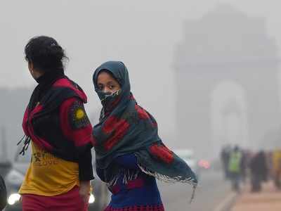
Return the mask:
{"type": "Polygon", "coordinates": [[[105,210],[164,210],[155,178],[188,183],[195,190],[195,174],[164,145],[156,120],[133,98],[124,63],[100,65],[93,84],[103,105],[93,127],[96,170],[112,192],[105,210]]]}

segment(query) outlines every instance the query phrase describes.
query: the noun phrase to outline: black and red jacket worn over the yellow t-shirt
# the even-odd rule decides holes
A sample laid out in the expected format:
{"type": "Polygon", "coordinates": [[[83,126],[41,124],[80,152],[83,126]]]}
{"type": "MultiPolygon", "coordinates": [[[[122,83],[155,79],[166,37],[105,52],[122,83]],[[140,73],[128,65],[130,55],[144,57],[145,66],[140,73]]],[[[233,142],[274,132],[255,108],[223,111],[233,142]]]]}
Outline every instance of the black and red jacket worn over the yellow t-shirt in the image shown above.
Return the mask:
{"type": "MultiPolygon", "coordinates": [[[[39,84],[40,85],[40,84],[39,84]]],[[[67,77],[54,79],[39,102],[34,95],[25,110],[25,135],[58,158],[79,163],[79,179],[93,179],[92,126],[84,110],[84,91],[67,77]],[[36,101],[36,100],[35,100],[36,101]]]]}

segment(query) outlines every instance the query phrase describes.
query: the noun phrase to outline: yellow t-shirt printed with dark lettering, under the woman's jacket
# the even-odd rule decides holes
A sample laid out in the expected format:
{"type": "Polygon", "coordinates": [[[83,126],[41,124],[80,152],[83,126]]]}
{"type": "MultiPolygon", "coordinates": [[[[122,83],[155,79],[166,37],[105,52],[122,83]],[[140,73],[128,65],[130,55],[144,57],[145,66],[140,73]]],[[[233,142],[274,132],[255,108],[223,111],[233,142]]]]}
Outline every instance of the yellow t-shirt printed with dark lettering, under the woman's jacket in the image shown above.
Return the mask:
{"type": "Polygon", "coordinates": [[[57,196],[79,186],[79,165],[41,150],[32,141],[32,161],[20,194],[57,196]]]}

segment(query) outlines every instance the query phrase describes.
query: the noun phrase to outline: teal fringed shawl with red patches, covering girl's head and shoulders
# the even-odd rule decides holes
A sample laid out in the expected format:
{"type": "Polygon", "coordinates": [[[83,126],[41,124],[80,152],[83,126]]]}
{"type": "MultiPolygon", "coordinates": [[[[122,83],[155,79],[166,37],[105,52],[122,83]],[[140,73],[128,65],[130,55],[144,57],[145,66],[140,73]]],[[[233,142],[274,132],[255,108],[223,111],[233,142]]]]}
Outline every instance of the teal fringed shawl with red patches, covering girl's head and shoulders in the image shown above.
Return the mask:
{"type": "Polygon", "coordinates": [[[158,136],[157,122],[145,109],[138,106],[131,94],[129,73],[124,63],[108,61],[96,69],[93,84],[103,104],[100,122],[93,127],[96,140],[96,165],[105,171],[106,182],[116,175],[112,163],[120,155],[133,153],[138,166],[146,174],[163,181],[180,181],[197,186],[197,178],[174,152],[169,150],[158,136]],[[109,72],[121,90],[104,94],[98,89],[100,72],[109,72]]]}

